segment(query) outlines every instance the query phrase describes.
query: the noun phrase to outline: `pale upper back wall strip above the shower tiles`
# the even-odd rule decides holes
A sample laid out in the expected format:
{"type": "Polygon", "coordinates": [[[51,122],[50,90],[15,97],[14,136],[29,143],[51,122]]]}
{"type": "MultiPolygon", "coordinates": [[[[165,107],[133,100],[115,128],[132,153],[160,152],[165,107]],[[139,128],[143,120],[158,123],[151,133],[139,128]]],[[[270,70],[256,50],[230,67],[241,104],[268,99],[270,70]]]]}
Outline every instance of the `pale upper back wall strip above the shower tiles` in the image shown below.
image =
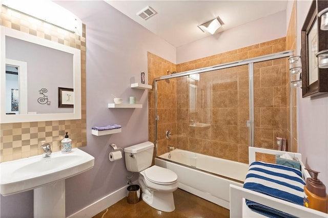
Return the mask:
{"type": "Polygon", "coordinates": [[[286,36],[286,12],[281,11],[177,48],[183,63],[286,36]]]}

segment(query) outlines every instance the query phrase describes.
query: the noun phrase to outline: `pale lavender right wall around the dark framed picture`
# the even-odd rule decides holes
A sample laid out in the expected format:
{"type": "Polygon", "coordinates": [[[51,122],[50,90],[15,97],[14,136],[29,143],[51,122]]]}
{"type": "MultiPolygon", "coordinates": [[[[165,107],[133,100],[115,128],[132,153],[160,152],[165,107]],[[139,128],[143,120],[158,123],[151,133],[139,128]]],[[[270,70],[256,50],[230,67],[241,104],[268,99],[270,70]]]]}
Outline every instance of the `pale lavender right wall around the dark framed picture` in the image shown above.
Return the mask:
{"type": "MultiPolygon", "coordinates": [[[[297,54],[301,50],[301,28],[312,1],[297,2],[297,54]]],[[[328,190],[328,94],[302,98],[297,89],[298,152],[306,166],[319,171],[328,190]]]]}

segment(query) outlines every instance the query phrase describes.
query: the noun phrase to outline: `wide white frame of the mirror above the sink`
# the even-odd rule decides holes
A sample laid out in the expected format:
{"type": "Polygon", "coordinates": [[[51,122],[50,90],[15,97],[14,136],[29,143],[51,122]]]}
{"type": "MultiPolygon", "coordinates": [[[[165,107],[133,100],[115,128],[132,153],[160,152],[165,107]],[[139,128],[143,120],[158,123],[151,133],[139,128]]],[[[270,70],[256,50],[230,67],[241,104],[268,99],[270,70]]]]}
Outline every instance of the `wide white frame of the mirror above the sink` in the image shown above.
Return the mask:
{"type": "Polygon", "coordinates": [[[81,51],[60,43],[1,26],[0,29],[0,123],[81,119],[81,51]],[[35,43],[73,55],[74,112],[6,115],[6,36],[35,43]]]}

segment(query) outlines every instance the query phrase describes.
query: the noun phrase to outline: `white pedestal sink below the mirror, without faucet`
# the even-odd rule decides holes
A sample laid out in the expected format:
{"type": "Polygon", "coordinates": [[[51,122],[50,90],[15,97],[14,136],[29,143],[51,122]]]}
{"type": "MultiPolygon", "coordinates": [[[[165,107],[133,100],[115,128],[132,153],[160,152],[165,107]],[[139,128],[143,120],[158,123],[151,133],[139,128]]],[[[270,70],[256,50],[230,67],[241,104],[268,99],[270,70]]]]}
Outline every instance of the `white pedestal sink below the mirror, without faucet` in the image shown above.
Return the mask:
{"type": "Polygon", "coordinates": [[[94,166],[94,157],[78,148],[0,164],[4,196],[34,189],[34,217],[65,217],[65,179],[94,166]]]}

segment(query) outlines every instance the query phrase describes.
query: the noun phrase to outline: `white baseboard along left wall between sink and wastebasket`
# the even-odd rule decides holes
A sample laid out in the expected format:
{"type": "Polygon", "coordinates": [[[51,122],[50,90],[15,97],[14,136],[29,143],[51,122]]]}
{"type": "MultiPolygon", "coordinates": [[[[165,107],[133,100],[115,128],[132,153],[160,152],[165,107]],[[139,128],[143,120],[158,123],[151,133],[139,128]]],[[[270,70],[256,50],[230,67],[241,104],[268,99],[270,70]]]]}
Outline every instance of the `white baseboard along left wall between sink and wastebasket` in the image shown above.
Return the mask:
{"type": "Polygon", "coordinates": [[[127,187],[128,187],[128,185],[108,194],[104,198],[99,199],[98,201],[90,204],[89,206],[68,216],[68,218],[81,218],[81,217],[90,218],[90,217],[100,213],[101,211],[112,206],[119,200],[127,197],[127,187]]]}

